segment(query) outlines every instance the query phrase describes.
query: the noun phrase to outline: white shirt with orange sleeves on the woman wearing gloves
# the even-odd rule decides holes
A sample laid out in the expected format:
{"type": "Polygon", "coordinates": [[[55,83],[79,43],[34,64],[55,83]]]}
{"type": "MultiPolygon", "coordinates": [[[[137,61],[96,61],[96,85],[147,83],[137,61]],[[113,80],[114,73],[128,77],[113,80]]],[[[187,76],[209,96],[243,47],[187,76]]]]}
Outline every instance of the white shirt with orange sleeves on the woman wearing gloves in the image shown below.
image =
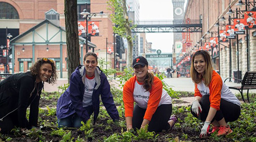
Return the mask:
{"type": "Polygon", "coordinates": [[[235,94],[231,92],[229,87],[222,81],[220,75],[213,70],[212,81],[207,87],[203,81],[199,84],[195,83],[194,96],[202,97],[205,94],[209,94],[210,107],[220,109],[220,99],[224,99],[233,104],[240,106],[240,101],[236,98],[235,94]]]}

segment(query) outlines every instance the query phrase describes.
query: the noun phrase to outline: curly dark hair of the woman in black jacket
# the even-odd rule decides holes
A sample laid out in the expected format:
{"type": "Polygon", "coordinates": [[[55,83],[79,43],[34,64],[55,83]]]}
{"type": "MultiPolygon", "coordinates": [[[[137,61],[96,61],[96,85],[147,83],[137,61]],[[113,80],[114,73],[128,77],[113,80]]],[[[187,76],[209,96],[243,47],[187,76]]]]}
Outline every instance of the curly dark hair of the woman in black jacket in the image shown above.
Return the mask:
{"type": "Polygon", "coordinates": [[[29,68],[29,70],[31,71],[32,75],[38,77],[40,72],[40,67],[45,63],[51,64],[52,66],[52,74],[46,82],[49,84],[54,84],[57,81],[57,72],[56,72],[56,66],[53,60],[48,58],[41,58],[37,60],[36,63],[29,68]]]}

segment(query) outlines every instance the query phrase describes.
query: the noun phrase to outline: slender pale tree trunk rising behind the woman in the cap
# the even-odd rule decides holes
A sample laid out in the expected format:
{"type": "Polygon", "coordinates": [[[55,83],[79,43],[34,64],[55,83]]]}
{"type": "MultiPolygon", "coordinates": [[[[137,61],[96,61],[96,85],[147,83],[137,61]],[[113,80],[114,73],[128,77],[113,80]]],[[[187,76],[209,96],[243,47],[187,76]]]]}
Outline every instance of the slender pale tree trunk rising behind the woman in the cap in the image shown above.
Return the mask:
{"type": "Polygon", "coordinates": [[[125,23],[125,29],[126,29],[126,34],[127,34],[127,42],[128,42],[128,49],[127,49],[127,68],[130,69],[132,66],[132,47],[133,47],[133,43],[132,43],[132,36],[131,36],[131,28],[129,25],[129,20],[128,20],[128,16],[127,16],[127,8],[126,8],[126,0],[122,0],[122,5],[123,5],[123,9],[124,9],[124,18],[126,19],[126,23],[125,23]]]}

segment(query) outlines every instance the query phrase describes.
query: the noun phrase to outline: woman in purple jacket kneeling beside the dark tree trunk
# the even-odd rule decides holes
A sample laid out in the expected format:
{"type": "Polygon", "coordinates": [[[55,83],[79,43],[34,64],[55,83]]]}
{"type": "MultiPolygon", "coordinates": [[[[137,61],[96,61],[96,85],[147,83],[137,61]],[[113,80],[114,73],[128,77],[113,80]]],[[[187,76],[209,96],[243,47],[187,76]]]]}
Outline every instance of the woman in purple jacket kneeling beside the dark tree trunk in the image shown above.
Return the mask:
{"type": "Polygon", "coordinates": [[[119,120],[107,76],[97,67],[95,53],[84,56],[84,66],[79,65],[71,74],[70,86],[57,102],[58,127],[81,127],[94,113],[94,123],[99,114],[99,95],[113,121],[119,120]]]}

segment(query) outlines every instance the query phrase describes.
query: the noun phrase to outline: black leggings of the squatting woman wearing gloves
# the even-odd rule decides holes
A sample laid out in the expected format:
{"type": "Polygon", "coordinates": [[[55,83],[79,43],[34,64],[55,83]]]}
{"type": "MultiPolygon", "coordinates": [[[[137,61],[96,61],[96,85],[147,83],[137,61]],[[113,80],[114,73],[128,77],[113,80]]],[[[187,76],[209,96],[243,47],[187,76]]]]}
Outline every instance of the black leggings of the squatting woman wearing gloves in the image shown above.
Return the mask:
{"type": "MultiPolygon", "coordinates": [[[[205,121],[210,109],[209,95],[204,95],[201,98],[200,105],[202,106],[202,109],[203,109],[202,113],[200,113],[201,120],[205,121]]],[[[220,110],[216,112],[216,115],[214,116],[212,122],[214,120],[220,121],[223,117],[225,118],[226,122],[233,122],[238,119],[240,112],[241,112],[241,108],[239,105],[233,104],[224,99],[220,99],[220,110]]],[[[192,109],[191,109],[191,113],[194,117],[198,118],[197,114],[192,112],[192,109]]]]}

